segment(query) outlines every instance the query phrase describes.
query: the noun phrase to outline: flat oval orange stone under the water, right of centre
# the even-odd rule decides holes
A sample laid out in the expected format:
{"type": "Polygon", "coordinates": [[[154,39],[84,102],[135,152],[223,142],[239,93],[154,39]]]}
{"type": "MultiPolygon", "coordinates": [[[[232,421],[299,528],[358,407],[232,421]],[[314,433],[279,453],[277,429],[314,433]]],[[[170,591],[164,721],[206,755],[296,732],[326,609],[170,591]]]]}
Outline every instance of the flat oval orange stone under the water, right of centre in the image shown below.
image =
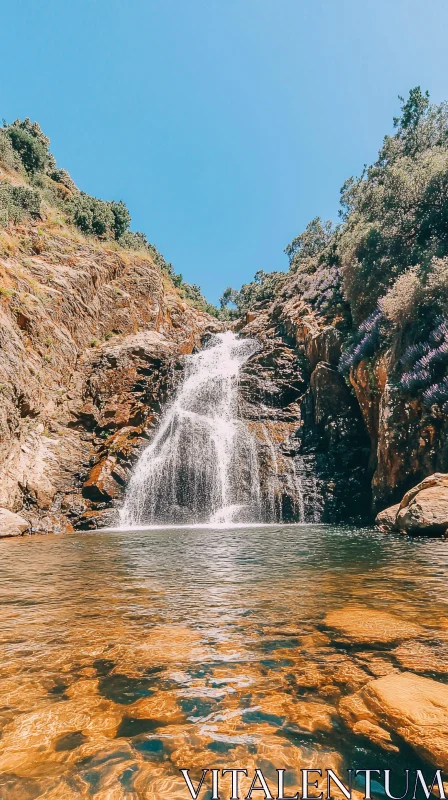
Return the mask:
{"type": "Polygon", "coordinates": [[[359,644],[387,644],[423,633],[420,625],[399,619],[387,611],[363,606],[346,606],[330,611],[324,625],[336,631],[339,637],[359,644]]]}

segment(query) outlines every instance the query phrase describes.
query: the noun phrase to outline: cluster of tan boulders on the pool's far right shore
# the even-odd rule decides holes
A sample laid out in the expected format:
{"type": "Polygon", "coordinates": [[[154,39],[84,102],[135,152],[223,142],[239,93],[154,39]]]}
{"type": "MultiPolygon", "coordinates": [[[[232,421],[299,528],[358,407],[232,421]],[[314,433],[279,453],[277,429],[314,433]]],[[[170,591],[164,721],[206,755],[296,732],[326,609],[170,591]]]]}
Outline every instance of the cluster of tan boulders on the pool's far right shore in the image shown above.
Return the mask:
{"type": "Polygon", "coordinates": [[[376,523],[383,530],[444,535],[448,531],[448,475],[425,478],[406,492],[401,503],[380,512],[376,523]]]}

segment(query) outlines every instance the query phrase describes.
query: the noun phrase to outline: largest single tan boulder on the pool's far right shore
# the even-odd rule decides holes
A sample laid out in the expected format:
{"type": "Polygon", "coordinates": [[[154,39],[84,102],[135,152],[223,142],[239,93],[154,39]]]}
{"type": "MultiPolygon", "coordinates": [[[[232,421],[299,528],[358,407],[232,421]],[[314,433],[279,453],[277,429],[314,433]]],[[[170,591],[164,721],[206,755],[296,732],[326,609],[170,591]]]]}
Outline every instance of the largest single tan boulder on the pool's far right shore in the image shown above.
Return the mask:
{"type": "Polygon", "coordinates": [[[448,528],[448,485],[419,490],[401,508],[397,525],[406,533],[443,535],[448,528]]]}

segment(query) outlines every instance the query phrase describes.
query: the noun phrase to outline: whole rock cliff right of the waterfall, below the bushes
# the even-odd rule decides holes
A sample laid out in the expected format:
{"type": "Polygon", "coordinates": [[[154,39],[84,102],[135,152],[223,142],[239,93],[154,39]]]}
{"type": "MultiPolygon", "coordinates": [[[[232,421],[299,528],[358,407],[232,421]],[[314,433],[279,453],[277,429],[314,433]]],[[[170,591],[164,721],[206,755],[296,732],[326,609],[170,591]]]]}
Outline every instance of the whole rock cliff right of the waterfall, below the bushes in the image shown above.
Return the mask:
{"type": "Polygon", "coordinates": [[[284,517],[300,518],[302,502],[307,521],[313,513],[323,521],[371,521],[419,481],[448,471],[447,414],[403,392],[393,352],[361,360],[343,375],[344,325],[307,304],[294,275],[237,328],[263,343],[246,367],[259,407],[244,414],[258,420],[265,438],[270,426],[284,517]],[[303,500],[288,474],[302,477],[303,500]]]}

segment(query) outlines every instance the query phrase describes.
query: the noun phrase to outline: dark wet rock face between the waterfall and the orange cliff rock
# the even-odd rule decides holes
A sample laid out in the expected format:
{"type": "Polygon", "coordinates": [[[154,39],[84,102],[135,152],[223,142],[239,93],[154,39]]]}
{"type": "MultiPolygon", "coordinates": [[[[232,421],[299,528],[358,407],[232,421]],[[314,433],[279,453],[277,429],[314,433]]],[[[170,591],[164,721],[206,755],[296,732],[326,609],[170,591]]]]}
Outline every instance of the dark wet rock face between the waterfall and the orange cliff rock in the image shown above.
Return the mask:
{"type": "Polygon", "coordinates": [[[285,521],[367,519],[370,443],[336,369],[342,337],[302,314],[294,304],[274,306],[241,331],[261,348],[243,368],[241,412],[259,440],[267,506],[285,521]]]}

